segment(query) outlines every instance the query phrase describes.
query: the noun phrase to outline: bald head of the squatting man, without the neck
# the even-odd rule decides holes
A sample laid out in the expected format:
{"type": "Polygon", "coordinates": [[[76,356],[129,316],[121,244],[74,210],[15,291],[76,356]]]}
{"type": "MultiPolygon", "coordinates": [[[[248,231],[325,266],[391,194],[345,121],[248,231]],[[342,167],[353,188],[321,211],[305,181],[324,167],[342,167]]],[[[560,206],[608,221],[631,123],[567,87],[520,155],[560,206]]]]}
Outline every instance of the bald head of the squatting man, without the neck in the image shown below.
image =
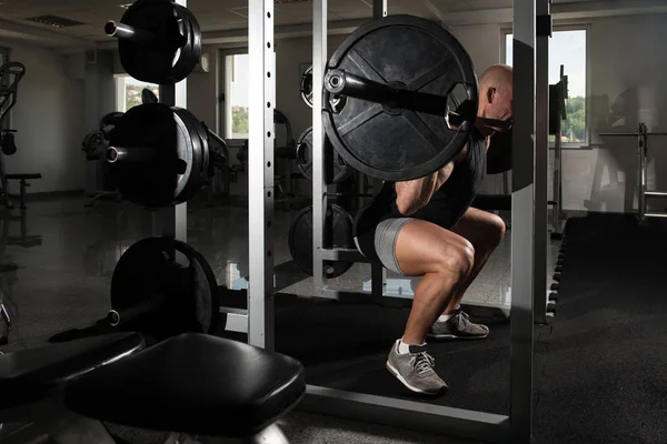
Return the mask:
{"type": "Polygon", "coordinates": [[[478,118],[511,121],[514,70],[507,64],[494,64],[479,75],[478,118]]]}

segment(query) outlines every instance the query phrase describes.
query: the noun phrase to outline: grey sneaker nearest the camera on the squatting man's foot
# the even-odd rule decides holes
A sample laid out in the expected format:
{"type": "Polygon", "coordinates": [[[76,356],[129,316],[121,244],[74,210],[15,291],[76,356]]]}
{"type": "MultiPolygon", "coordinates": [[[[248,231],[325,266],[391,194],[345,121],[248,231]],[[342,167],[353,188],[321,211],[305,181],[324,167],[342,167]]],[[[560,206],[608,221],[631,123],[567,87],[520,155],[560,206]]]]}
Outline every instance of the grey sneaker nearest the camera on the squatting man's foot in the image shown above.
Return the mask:
{"type": "Polygon", "coordinates": [[[426,353],[426,346],[410,345],[409,353],[400,354],[398,353],[399,341],[396,341],[387,359],[387,370],[398,381],[412,392],[428,395],[437,395],[449,389],[434,371],[436,360],[426,353]]]}

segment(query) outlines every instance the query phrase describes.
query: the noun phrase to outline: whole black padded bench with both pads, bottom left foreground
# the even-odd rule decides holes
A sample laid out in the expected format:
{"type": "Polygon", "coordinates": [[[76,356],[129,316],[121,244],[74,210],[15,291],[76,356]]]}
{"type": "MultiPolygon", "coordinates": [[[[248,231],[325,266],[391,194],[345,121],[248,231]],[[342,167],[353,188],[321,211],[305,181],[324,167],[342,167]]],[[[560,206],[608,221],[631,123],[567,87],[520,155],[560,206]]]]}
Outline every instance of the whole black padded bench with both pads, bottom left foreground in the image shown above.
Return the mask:
{"type": "MultiPolygon", "coordinates": [[[[61,414],[53,411],[56,406],[63,415],[81,415],[68,423],[70,433],[80,437],[92,427],[83,425],[88,417],[191,435],[242,437],[248,443],[287,443],[275,422],[306,391],[299,362],[203,334],[145,346],[140,335],[122,333],[0,355],[0,418],[52,423],[52,416],[61,414]]],[[[86,421],[108,433],[92,420],[86,421]]],[[[34,427],[39,435],[53,432],[34,427]]],[[[59,424],[56,432],[62,428],[59,424]]],[[[109,440],[113,440],[110,434],[109,440]]]]}

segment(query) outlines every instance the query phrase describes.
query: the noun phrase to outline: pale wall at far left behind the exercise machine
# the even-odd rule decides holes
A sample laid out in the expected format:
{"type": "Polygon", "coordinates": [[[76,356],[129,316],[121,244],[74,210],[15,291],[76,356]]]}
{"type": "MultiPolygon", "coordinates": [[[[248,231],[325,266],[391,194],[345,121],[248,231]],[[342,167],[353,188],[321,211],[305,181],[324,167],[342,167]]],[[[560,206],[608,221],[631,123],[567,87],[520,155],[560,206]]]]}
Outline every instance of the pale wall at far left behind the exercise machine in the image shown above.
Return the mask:
{"type": "Polygon", "coordinates": [[[8,172],[41,173],[30,192],[83,189],[83,80],[79,70],[67,68],[72,58],[13,41],[0,47],[11,48],[11,60],[26,65],[12,109],[18,151],[6,157],[8,172]]]}

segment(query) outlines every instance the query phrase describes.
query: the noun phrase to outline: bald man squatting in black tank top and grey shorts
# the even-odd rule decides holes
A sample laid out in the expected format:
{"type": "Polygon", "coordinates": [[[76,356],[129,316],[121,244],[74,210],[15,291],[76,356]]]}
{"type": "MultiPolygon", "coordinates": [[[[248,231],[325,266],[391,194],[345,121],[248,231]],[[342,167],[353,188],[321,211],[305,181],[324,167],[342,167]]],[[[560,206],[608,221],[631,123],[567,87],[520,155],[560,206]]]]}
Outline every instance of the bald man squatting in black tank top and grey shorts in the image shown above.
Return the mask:
{"type": "Polygon", "coordinates": [[[477,120],[464,150],[441,170],[408,182],[385,182],[357,218],[359,250],[406,276],[422,276],[412,309],[387,369],[406,387],[438,394],[447,384],[426,351],[432,340],[482,339],[486,325],[470,322],[460,301],[505,235],[495,214],[470,208],[486,174],[494,134],[512,119],[512,70],[492,65],[479,77],[477,120]]]}

